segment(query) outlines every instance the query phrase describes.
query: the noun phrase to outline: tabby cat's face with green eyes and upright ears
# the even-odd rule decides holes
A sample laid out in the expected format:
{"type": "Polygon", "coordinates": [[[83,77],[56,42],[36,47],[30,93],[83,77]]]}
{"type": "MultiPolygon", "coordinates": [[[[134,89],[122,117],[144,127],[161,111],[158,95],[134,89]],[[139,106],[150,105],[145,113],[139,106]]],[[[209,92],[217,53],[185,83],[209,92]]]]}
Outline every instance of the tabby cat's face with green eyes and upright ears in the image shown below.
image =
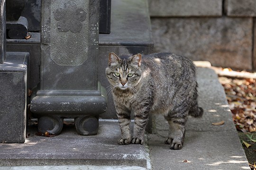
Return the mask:
{"type": "MultiPolygon", "coordinates": [[[[125,56],[128,58],[127,56],[125,56]]],[[[109,54],[109,66],[106,68],[106,76],[113,88],[134,89],[141,77],[141,54],[128,59],[120,59],[115,53],[109,54]]]]}

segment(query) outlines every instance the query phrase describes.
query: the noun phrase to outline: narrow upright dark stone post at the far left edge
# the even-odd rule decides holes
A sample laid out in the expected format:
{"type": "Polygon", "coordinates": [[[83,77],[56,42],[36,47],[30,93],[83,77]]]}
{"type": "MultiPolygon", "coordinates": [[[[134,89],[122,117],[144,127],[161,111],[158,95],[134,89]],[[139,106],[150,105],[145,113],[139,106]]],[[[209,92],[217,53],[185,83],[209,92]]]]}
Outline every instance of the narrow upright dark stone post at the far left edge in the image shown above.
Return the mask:
{"type": "Polygon", "coordinates": [[[5,0],[0,1],[0,64],[4,62],[6,55],[6,15],[5,0]]]}

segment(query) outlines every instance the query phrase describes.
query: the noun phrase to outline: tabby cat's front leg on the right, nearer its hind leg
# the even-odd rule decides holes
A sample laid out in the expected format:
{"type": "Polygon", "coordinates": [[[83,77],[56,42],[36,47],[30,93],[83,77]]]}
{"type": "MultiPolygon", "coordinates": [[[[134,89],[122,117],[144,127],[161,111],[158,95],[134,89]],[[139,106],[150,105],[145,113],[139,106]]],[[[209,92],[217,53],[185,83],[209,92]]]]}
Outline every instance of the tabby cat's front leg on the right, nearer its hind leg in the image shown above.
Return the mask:
{"type": "Polygon", "coordinates": [[[134,128],[132,144],[144,144],[144,133],[148,122],[149,106],[145,106],[134,112],[134,128]]]}

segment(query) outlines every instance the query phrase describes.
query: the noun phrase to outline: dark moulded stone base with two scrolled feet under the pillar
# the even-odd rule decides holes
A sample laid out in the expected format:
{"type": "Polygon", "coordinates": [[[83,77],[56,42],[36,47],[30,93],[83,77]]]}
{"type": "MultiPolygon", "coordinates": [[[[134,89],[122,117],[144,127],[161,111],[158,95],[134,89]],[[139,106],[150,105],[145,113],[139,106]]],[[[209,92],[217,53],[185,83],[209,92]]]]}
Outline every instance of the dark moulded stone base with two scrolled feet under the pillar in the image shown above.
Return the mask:
{"type": "Polygon", "coordinates": [[[96,135],[99,114],[107,109],[105,88],[98,83],[98,90],[39,90],[32,97],[30,110],[38,117],[38,131],[60,134],[63,118],[75,118],[80,135],[96,135]]]}

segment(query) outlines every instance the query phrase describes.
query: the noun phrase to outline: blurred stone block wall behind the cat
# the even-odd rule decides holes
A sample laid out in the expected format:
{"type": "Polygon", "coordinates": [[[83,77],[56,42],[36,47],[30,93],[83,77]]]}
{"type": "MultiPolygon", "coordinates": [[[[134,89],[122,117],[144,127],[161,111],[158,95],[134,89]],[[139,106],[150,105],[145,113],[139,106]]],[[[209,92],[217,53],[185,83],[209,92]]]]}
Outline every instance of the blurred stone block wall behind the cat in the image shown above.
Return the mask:
{"type": "Polygon", "coordinates": [[[154,52],[256,71],[256,0],[148,0],[154,52]]]}

